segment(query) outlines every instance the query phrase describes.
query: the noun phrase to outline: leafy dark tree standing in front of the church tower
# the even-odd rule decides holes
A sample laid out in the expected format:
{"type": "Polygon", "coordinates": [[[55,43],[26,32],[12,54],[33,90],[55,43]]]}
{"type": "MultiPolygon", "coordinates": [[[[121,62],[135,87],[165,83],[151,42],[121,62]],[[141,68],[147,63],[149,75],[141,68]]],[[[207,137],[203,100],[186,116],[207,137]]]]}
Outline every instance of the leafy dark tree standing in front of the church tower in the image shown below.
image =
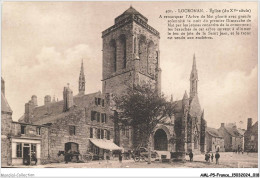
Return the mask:
{"type": "Polygon", "coordinates": [[[174,104],[164,95],[158,94],[152,84],[129,88],[127,94],[114,98],[118,112],[116,121],[124,126],[132,126],[141,143],[148,146],[148,163],[151,163],[151,137],[155,127],[164,123],[174,113],[174,104]]]}

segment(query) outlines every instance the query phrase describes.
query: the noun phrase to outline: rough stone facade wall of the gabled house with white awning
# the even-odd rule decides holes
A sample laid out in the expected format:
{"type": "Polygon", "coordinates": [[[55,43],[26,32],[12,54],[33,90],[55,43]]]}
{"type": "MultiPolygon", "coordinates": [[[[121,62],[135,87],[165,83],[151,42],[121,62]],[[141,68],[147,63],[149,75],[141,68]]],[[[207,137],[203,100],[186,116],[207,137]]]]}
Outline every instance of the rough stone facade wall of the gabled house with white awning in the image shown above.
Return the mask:
{"type": "MultiPolygon", "coordinates": [[[[96,105],[95,97],[105,99],[103,95],[97,94],[89,98],[89,103],[86,107],[75,107],[68,112],[64,112],[52,122],[49,133],[49,154],[51,162],[63,162],[64,156],[58,156],[59,151],[65,151],[65,144],[73,142],[78,144],[78,149],[81,154],[86,154],[90,149],[90,128],[106,129],[110,131],[110,139],[113,140],[113,120],[110,119],[110,112],[108,112],[108,105],[96,105]],[[91,120],[91,111],[107,114],[107,123],[97,122],[91,120]],[[75,135],[70,135],[69,127],[75,126],[75,135]]],[[[107,103],[105,101],[105,103],[107,103]]],[[[101,120],[101,117],[100,117],[101,120]]],[[[96,133],[94,133],[95,135],[96,133]]],[[[46,150],[44,157],[46,157],[46,150]]]]}

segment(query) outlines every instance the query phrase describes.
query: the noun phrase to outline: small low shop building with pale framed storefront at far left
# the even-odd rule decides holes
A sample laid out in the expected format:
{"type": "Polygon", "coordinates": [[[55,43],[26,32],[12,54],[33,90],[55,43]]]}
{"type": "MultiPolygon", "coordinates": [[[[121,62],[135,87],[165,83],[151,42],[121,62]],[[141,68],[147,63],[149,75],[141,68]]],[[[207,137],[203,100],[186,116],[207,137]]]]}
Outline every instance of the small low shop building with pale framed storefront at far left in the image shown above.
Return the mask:
{"type": "Polygon", "coordinates": [[[12,165],[30,165],[48,162],[48,126],[12,122],[12,165]]]}

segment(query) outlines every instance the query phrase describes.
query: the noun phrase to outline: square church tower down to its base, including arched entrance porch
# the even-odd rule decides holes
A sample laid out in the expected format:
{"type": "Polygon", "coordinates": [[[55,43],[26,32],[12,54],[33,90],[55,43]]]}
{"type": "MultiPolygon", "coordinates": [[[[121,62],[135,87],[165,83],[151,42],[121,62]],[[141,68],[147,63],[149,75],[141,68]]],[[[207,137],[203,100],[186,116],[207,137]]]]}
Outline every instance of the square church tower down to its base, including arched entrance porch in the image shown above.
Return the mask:
{"type": "MultiPolygon", "coordinates": [[[[115,18],[115,24],[102,32],[102,93],[122,96],[127,89],[151,82],[161,92],[159,57],[160,34],[148,25],[148,19],[133,7],[115,18]]],[[[115,112],[115,111],[114,111],[115,112]]],[[[168,141],[174,137],[173,122],[156,127],[154,149],[174,151],[168,141]]],[[[131,150],[140,143],[134,128],[115,125],[115,143],[131,150]]]]}

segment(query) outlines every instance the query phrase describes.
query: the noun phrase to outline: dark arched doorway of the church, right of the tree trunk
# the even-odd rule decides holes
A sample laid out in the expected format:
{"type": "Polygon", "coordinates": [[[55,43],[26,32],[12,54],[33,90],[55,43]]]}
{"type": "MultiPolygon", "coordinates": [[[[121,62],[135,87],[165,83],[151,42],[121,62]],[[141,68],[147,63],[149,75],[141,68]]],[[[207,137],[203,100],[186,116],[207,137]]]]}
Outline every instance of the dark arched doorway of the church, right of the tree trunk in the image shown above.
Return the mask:
{"type": "Polygon", "coordinates": [[[158,129],[154,134],[154,149],[161,151],[168,150],[167,134],[163,129],[158,129]]]}

